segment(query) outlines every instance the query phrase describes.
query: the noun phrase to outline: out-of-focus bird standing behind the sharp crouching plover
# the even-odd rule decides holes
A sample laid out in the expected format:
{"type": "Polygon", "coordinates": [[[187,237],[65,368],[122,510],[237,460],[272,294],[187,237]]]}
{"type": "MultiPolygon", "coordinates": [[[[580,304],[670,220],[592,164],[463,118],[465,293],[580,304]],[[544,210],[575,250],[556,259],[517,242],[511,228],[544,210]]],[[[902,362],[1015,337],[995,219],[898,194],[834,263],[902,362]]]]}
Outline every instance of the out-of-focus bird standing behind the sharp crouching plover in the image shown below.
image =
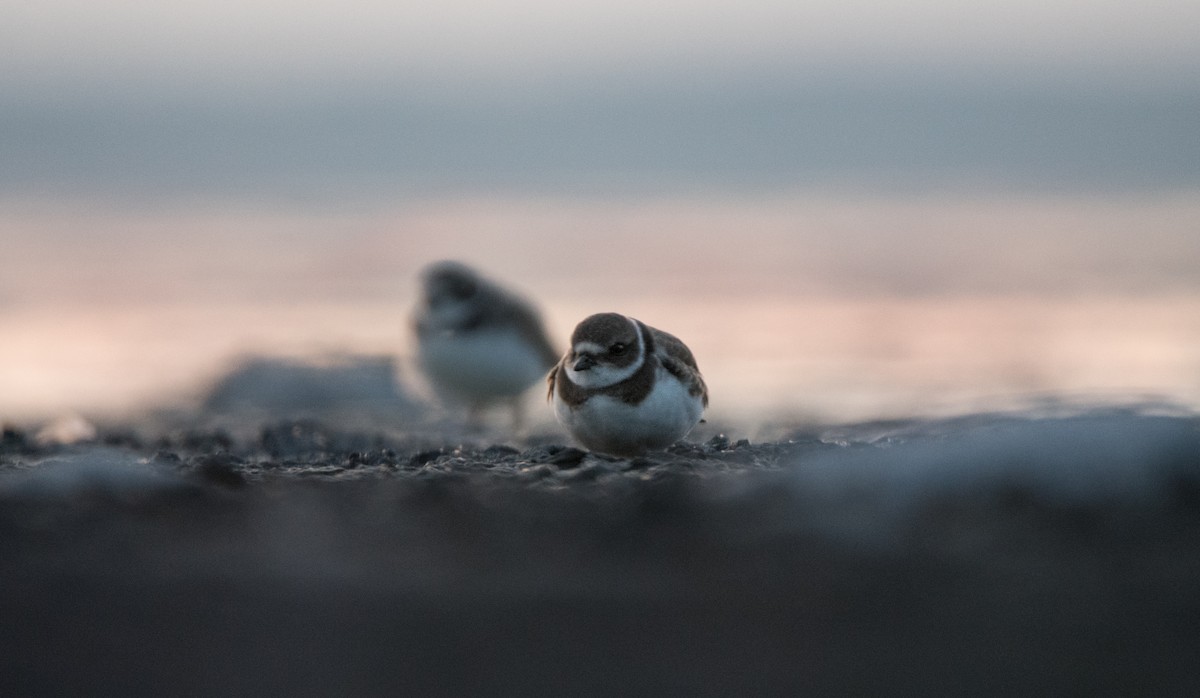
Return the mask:
{"type": "Polygon", "coordinates": [[[445,403],[466,405],[468,425],[508,403],[523,426],[522,393],[558,361],[538,308],[454,260],[426,266],[413,318],[418,367],[445,403]]]}

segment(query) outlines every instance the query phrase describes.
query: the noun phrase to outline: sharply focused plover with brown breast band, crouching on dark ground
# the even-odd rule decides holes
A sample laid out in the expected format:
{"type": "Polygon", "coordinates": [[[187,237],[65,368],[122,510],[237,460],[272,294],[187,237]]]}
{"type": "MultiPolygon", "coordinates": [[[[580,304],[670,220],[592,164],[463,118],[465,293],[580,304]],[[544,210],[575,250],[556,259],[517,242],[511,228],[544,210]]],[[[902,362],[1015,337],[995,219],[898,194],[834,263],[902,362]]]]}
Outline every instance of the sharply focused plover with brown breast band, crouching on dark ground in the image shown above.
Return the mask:
{"type": "Polygon", "coordinates": [[[589,451],[618,457],[683,439],[708,387],[678,337],[619,313],[584,318],[546,377],[554,416],[589,451]]]}

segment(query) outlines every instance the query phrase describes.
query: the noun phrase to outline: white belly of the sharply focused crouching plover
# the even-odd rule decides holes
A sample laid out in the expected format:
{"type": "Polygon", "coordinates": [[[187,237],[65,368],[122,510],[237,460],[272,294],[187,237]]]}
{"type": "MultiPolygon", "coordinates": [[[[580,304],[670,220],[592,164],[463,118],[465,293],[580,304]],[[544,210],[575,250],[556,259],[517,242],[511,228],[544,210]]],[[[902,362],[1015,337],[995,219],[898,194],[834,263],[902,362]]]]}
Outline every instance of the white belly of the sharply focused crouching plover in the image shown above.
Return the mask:
{"type": "Polygon", "coordinates": [[[662,368],[654,390],[636,405],[598,395],[572,410],[554,396],[554,415],[571,435],[589,450],[614,456],[665,449],[688,435],[703,411],[701,399],[662,368]]]}

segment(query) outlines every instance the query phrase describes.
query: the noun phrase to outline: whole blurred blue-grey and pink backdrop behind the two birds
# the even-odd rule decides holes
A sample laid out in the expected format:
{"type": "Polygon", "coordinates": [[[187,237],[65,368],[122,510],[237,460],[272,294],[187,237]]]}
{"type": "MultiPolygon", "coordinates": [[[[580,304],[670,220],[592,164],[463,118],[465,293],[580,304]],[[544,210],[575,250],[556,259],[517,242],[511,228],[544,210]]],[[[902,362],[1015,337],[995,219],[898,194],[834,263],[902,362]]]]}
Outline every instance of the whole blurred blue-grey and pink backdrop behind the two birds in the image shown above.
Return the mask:
{"type": "Polygon", "coordinates": [[[718,416],[1200,407],[1196,36],[1190,0],[8,2],[0,419],[403,369],[442,258],[563,344],[674,332],[718,416]]]}

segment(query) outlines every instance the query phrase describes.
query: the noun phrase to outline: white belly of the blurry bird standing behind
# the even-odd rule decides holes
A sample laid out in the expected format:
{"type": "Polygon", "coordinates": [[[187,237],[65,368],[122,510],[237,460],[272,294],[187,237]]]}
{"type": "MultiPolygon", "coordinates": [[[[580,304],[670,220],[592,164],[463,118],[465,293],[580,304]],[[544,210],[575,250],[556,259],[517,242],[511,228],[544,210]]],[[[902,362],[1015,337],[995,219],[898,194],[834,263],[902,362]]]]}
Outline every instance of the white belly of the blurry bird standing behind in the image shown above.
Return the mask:
{"type": "Polygon", "coordinates": [[[425,337],[416,360],[443,398],[474,404],[521,395],[548,371],[538,351],[511,330],[425,337]]]}

